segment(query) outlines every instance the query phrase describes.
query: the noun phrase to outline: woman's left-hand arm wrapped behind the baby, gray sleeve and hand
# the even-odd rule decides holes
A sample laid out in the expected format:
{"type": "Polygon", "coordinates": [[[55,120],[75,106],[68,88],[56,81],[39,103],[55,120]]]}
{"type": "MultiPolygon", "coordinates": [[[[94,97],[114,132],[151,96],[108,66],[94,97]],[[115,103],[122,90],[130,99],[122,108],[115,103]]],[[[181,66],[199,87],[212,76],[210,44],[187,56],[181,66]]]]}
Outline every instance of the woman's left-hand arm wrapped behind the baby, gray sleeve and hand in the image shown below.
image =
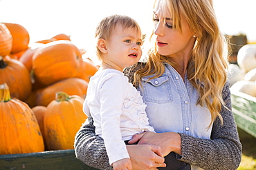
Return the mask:
{"type": "MultiPolygon", "coordinates": [[[[154,170],[165,167],[161,149],[154,145],[127,145],[134,170],[154,170]]],[[[97,169],[113,169],[109,166],[109,158],[104,141],[95,135],[93,118],[89,116],[75,136],[75,155],[79,160],[97,169]]]]}

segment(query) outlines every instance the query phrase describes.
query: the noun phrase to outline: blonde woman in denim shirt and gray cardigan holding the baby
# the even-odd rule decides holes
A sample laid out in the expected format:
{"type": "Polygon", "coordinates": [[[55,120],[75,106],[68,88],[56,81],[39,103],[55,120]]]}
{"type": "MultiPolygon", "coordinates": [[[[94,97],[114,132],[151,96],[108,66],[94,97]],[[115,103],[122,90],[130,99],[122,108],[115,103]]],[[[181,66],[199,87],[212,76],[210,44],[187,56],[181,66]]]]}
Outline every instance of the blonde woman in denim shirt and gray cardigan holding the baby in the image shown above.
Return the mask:
{"type": "MultiPolygon", "coordinates": [[[[156,42],[147,63],[125,70],[130,81],[134,78],[149,123],[158,132],[137,134],[130,143],[139,140],[138,145],[127,145],[133,168],[164,167],[156,154],[161,149],[163,156],[174,152],[191,169],[237,169],[241,143],[226,77],[226,40],[212,1],[156,0],[153,19],[156,42]]],[[[89,118],[77,132],[77,158],[111,169],[104,142],[93,128],[89,118]]]]}

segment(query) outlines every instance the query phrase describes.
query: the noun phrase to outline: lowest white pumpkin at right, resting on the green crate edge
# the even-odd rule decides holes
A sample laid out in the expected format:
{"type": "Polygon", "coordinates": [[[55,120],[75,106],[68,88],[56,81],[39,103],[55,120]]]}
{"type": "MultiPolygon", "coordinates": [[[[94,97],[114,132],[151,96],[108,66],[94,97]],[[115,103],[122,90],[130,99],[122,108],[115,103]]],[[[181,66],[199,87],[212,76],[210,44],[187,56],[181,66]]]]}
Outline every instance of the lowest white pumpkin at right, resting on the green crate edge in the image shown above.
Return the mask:
{"type": "Polygon", "coordinates": [[[255,81],[237,81],[230,87],[230,92],[243,92],[256,97],[256,83],[255,81]]]}

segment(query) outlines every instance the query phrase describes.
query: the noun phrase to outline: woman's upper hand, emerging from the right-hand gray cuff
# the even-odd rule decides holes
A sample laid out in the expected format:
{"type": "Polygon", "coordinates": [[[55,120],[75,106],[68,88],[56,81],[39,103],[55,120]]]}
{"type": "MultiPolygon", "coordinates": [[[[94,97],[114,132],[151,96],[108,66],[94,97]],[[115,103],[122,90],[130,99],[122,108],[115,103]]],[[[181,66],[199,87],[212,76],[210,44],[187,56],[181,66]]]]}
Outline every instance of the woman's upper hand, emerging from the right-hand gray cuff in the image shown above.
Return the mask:
{"type": "Polygon", "coordinates": [[[171,151],[181,155],[181,136],[174,132],[144,132],[142,134],[136,134],[129,141],[129,144],[137,141],[139,141],[138,145],[147,144],[161,147],[161,153],[163,156],[167,156],[167,154],[169,154],[171,151]]]}

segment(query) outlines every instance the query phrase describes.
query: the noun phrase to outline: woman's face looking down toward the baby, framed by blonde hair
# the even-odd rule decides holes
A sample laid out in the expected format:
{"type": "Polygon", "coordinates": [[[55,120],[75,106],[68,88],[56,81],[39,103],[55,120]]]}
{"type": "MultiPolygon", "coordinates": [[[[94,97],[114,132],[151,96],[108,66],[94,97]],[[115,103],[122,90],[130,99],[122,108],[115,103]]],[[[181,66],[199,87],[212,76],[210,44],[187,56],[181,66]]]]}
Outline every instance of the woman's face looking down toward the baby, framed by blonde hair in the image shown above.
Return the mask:
{"type": "Polygon", "coordinates": [[[179,31],[172,22],[170,12],[163,11],[156,1],[154,8],[154,34],[156,35],[156,49],[163,56],[185,56],[189,55],[194,47],[194,32],[191,32],[188,22],[181,16],[181,28],[179,31]]]}

